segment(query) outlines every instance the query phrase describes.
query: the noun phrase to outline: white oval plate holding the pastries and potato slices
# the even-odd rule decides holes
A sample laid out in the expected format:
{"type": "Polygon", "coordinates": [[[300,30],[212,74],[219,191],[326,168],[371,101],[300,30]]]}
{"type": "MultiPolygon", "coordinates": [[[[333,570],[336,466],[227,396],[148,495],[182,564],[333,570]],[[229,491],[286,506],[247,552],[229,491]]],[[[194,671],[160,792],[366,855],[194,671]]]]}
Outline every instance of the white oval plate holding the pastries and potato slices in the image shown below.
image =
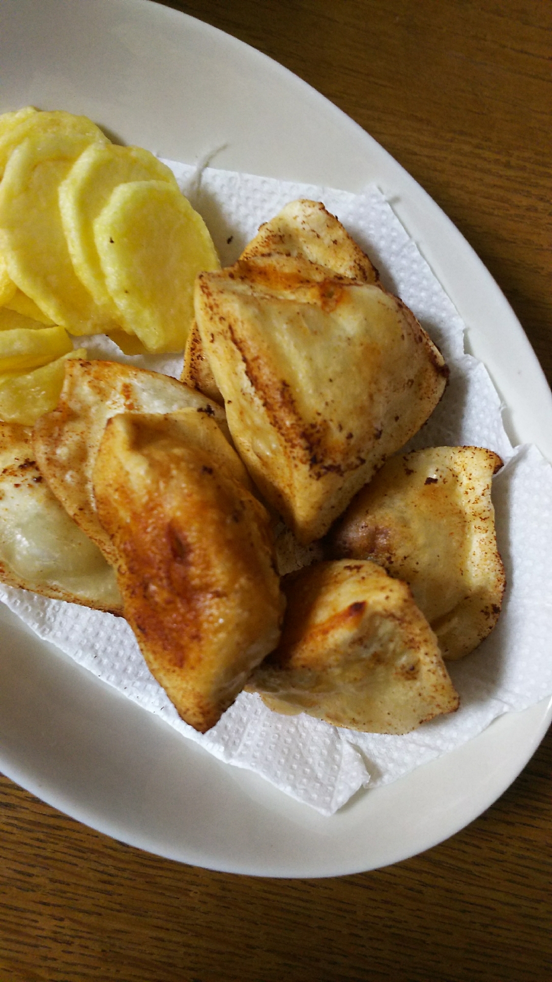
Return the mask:
{"type": "MultiPolygon", "coordinates": [[[[192,163],[360,191],[375,182],[469,325],[514,443],[552,458],[552,398],[509,304],[458,230],[340,110],[257,51],[145,0],[3,0],[0,111],[91,117],[120,140],[192,163]]],[[[552,704],[495,721],[401,781],[322,818],[219,763],[0,611],[0,768],[109,836],[198,866],[334,876],[434,846],[520,773],[552,704]]]]}

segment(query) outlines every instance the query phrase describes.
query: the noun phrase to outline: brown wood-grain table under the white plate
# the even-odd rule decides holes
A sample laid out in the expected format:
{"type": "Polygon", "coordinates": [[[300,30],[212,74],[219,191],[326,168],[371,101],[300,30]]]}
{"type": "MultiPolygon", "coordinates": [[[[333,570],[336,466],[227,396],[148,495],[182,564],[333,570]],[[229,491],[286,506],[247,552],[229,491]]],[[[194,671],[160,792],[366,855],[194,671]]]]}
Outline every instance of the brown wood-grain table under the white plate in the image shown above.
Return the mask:
{"type": "MultiPolygon", "coordinates": [[[[550,378],[546,0],[170,6],[282,62],[404,164],[486,263],[550,378]]],[[[3,779],[0,978],[545,982],[551,761],[549,734],[452,840],[333,880],[178,865],[90,832],[3,779]]]]}

